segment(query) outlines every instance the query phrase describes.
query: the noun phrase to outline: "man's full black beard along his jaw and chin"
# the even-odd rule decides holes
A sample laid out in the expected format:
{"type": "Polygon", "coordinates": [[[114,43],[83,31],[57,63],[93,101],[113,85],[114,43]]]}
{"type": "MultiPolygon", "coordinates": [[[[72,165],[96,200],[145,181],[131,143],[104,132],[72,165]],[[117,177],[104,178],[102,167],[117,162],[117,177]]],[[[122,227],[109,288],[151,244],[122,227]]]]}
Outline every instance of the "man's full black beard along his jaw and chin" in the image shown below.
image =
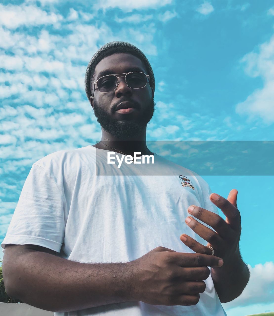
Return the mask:
{"type": "Polygon", "coordinates": [[[96,100],[93,101],[93,111],[97,122],[102,128],[118,139],[128,139],[136,137],[146,127],[152,119],[155,110],[155,101],[152,99],[144,109],[140,118],[117,120],[114,119],[103,106],[99,106],[96,100]]]}

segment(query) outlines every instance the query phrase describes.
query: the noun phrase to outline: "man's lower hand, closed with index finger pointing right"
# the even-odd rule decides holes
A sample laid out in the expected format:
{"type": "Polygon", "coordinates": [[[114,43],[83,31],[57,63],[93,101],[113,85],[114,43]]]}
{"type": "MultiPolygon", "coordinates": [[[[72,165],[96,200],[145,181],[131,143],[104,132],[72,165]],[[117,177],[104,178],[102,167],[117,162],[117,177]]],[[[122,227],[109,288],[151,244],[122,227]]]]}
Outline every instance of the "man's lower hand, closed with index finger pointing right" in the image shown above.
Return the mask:
{"type": "Polygon", "coordinates": [[[209,277],[208,267],[220,267],[221,258],[176,252],[156,247],[130,262],[133,268],[132,297],[153,305],[196,305],[209,277]]]}

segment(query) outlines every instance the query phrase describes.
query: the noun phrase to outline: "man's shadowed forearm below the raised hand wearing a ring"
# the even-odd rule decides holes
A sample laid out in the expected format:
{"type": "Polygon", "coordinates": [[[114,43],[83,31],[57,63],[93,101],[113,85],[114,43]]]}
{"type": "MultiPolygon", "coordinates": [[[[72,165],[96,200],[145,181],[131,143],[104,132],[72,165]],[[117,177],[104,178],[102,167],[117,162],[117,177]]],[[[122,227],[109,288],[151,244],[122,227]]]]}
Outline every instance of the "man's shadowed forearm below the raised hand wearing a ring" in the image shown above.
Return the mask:
{"type": "Polygon", "coordinates": [[[239,248],[229,263],[220,268],[211,268],[210,274],[221,303],[233,301],[238,297],[245,289],[250,276],[239,248]]]}

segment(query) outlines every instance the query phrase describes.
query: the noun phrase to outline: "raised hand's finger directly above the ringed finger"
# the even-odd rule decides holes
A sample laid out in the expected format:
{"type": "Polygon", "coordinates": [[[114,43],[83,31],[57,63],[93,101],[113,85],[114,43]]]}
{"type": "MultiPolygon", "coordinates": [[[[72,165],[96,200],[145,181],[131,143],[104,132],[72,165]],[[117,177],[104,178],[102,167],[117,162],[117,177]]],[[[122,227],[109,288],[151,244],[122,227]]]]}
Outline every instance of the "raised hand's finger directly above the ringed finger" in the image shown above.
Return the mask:
{"type": "Polygon", "coordinates": [[[223,240],[220,235],[218,235],[214,230],[196,221],[195,218],[188,216],[185,219],[185,222],[187,226],[202,237],[202,239],[208,241],[213,248],[218,249],[223,244],[223,240]]]}

